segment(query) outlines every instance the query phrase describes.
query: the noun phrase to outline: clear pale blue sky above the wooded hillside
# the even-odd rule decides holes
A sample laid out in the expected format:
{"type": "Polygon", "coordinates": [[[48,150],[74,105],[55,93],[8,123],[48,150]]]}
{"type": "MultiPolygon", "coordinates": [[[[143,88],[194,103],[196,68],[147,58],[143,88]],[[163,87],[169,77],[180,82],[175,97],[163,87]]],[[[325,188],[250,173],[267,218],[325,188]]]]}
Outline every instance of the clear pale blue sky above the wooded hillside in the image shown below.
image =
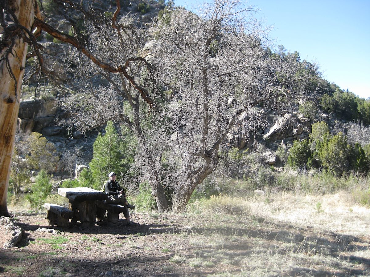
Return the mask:
{"type": "MultiPolygon", "coordinates": [[[[211,0],[207,0],[211,2],[211,0]]],[[[196,13],[202,1],[174,0],[196,13]]],[[[277,46],[319,65],[322,77],[370,97],[370,0],[250,0],[277,46]]],[[[277,47],[276,47],[277,49],[277,47]]]]}

